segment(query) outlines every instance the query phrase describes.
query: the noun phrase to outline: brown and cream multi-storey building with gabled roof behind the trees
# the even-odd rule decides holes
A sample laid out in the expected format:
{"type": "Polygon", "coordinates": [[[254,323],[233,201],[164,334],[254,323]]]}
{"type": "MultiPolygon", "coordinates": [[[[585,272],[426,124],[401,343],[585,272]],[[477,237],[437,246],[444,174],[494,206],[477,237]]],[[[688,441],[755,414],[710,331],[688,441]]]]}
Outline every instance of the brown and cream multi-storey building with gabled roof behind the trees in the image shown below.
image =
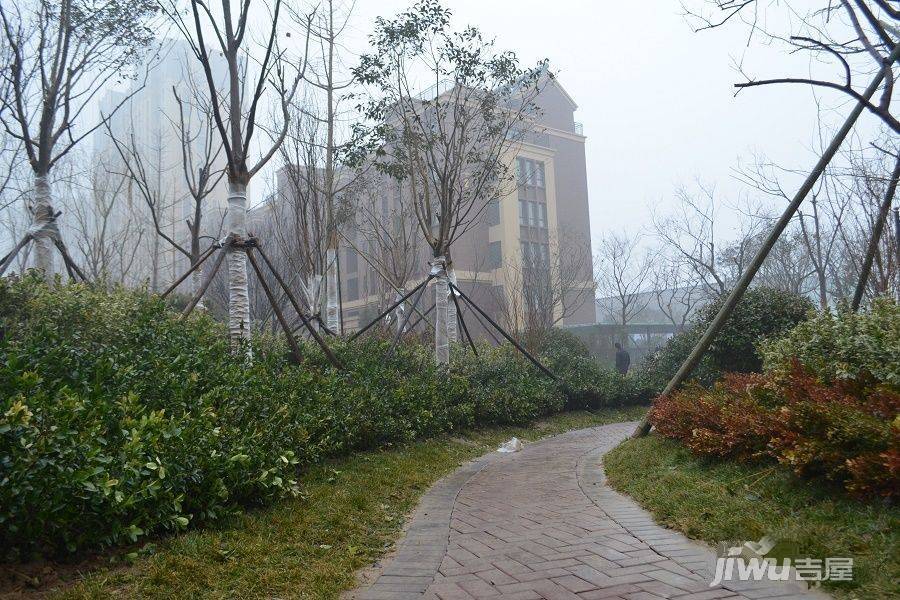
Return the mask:
{"type": "MultiPolygon", "coordinates": [[[[554,307],[557,324],[594,323],[586,138],[575,121],[577,105],[555,78],[548,78],[536,104],[540,111],[533,129],[508,157],[516,170],[516,185],[491,202],[479,221],[454,242],[458,285],[493,318],[509,324],[528,302],[542,301],[529,293],[525,274],[530,265],[574,265],[577,273],[570,278],[566,298],[554,307]],[[580,257],[577,263],[571,261],[575,256],[580,257]]],[[[402,186],[386,181],[378,193],[388,218],[389,207],[403,194],[402,186]]],[[[380,269],[367,262],[372,248],[367,247],[365,236],[353,227],[346,228],[345,234],[362,252],[345,244],[340,255],[344,327],[352,331],[390,303],[395,291],[385,284],[380,269]]],[[[418,267],[407,288],[425,277],[428,250],[424,242],[419,244],[418,267]]],[[[432,303],[426,294],[422,308],[432,303]]],[[[466,319],[483,336],[478,321],[466,319]]]]}

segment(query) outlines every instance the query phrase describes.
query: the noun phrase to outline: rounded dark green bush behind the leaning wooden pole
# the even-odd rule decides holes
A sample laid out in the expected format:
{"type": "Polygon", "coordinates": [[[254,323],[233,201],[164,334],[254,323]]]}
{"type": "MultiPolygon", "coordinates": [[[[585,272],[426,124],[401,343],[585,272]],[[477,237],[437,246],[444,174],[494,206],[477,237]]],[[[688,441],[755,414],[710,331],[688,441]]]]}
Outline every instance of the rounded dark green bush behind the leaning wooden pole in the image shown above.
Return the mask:
{"type": "MultiPolygon", "coordinates": [[[[694,315],[690,327],[670,338],[644,361],[643,370],[657,393],[687,359],[724,303],[725,296],[722,296],[703,306],[694,315]]],[[[804,321],[813,310],[812,303],[803,296],[771,288],[750,288],[700,361],[693,378],[710,385],[726,372],[761,371],[758,346],[804,321]]]]}

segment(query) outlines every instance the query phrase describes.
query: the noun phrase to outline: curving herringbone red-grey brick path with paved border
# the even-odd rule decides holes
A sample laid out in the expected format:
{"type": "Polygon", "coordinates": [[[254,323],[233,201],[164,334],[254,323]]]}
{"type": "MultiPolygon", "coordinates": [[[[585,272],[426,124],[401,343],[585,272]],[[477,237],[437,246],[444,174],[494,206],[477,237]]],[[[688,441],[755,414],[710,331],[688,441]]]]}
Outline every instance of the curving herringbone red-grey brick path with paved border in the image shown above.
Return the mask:
{"type": "Polygon", "coordinates": [[[827,598],[794,584],[710,588],[713,554],[604,484],[620,423],[491,453],[423,497],[397,552],[359,600],[827,598]]]}

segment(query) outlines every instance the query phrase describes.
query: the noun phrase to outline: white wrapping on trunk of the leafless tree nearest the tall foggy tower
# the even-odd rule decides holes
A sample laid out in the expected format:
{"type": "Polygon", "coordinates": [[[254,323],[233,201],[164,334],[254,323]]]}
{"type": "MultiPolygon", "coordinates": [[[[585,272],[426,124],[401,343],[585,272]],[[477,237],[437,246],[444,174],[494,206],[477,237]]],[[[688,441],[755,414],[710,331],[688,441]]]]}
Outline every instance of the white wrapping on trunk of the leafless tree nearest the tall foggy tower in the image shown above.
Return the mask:
{"type": "MultiPolygon", "coordinates": [[[[228,233],[238,241],[247,237],[247,186],[243,183],[228,182],[228,233]]],[[[236,248],[228,250],[228,335],[232,343],[250,338],[247,255],[236,248]]]]}

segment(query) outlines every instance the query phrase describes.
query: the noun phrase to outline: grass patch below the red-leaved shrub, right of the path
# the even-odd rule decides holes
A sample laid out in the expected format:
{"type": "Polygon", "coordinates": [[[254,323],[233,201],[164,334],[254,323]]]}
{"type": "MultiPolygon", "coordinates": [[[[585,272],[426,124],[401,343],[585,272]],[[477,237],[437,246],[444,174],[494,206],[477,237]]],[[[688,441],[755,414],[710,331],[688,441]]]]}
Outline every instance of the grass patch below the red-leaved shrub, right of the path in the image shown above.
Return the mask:
{"type": "Polygon", "coordinates": [[[839,598],[900,598],[900,510],[850,500],[772,465],[711,462],[650,435],[629,440],[604,459],[614,488],[657,521],[715,544],[771,535],[812,557],[853,557],[852,586],[826,589],[839,598]]]}

